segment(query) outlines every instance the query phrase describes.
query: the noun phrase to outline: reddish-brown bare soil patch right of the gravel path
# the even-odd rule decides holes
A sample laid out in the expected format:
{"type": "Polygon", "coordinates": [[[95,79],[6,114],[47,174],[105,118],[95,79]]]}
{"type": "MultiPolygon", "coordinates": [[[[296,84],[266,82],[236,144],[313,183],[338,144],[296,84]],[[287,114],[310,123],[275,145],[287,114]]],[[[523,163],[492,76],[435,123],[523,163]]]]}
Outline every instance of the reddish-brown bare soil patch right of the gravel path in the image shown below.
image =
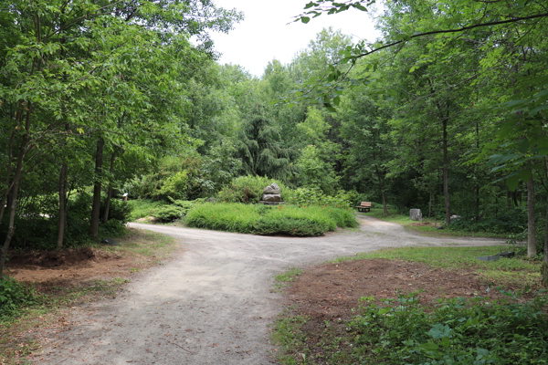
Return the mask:
{"type": "MultiPolygon", "coordinates": [[[[416,293],[423,304],[438,297],[485,296],[489,283],[480,276],[433,268],[419,263],[365,259],[313,266],[287,290],[290,305],[309,318],[303,328],[311,348],[318,342],[326,321],[347,321],[357,313],[361,297],[397,298],[416,293]]],[[[498,297],[495,290],[490,297],[498,297]]]]}

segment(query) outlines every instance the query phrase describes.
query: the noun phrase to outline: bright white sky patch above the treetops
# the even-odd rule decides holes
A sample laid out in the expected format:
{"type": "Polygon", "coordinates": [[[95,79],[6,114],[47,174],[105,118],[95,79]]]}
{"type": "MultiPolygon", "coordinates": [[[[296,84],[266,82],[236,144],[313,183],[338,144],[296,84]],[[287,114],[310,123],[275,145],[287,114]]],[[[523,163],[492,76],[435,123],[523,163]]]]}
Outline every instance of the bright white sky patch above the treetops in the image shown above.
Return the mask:
{"type": "Polygon", "coordinates": [[[308,46],[322,28],[354,36],[354,41],[374,41],[379,33],[374,21],[362,11],[350,9],[340,14],[311,19],[308,24],[288,23],[303,12],[310,0],[216,0],[216,5],[226,9],[237,8],[245,19],[227,35],[214,33],[215,48],[222,53],[219,63],[232,63],[246,68],[260,77],[272,59],[282,64],[290,63],[297,52],[308,46]]]}

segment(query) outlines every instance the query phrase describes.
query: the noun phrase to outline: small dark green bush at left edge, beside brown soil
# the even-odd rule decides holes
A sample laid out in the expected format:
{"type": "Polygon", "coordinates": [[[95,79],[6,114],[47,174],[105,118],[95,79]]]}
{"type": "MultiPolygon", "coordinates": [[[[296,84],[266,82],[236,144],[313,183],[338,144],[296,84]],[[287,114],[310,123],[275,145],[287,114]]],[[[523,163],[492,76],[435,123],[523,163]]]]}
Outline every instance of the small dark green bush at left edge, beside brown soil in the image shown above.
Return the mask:
{"type": "Polygon", "coordinates": [[[34,304],[34,290],[11,277],[0,278],[0,320],[4,321],[21,314],[21,309],[34,304]]]}

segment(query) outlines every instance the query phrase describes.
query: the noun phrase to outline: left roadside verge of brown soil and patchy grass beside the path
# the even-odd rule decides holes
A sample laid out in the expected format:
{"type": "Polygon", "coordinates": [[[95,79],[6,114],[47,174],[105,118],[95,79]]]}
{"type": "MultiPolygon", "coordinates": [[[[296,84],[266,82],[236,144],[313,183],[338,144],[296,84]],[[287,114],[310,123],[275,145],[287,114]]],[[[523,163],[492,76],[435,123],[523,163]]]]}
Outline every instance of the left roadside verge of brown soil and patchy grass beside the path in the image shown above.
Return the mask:
{"type": "Polygon", "coordinates": [[[116,241],[120,245],[82,248],[93,254],[85,266],[81,266],[81,260],[70,262],[67,259],[61,266],[51,267],[51,255],[43,255],[47,260],[38,260],[36,254],[33,255],[34,266],[8,263],[8,273],[15,273],[20,281],[8,278],[0,282],[2,363],[28,363],[26,355],[40,347],[36,337],[40,328],[68,325],[63,309],[116,297],[133,273],[162,265],[181,248],[172,237],[138,229],[126,230],[116,241]],[[74,273],[74,276],[59,279],[59,269],[64,273],[74,273]],[[37,279],[29,282],[31,278],[37,279]]]}

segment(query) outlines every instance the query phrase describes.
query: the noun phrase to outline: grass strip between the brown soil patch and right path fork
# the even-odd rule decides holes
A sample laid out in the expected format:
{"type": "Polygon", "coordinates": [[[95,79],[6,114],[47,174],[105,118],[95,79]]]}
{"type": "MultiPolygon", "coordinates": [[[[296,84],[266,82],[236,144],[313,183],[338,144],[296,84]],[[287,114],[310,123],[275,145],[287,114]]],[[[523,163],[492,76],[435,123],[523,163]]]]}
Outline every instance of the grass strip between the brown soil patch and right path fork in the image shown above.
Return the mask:
{"type": "Polygon", "coordinates": [[[508,245],[480,247],[403,247],[339,257],[335,261],[386,258],[426,264],[428,266],[466,270],[476,273],[488,281],[500,285],[530,286],[538,285],[541,262],[524,260],[519,257],[501,258],[498,261],[480,261],[476,257],[496,255],[515,250],[508,245]]]}

